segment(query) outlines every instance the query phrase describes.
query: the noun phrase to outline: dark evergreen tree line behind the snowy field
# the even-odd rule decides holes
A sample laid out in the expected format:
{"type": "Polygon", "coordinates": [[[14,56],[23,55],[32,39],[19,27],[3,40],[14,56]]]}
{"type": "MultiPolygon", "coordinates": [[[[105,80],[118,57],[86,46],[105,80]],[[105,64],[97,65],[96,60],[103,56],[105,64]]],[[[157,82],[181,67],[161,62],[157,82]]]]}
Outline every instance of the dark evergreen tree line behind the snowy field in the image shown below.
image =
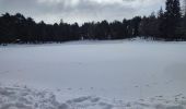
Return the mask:
{"type": "Polygon", "coordinates": [[[165,9],[149,16],[107,22],[88,22],[68,24],[36,23],[21,13],[0,16],[0,44],[8,43],[47,43],[80,39],[125,39],[143,37],[161,40],[186,40],[186,11],[182,13],[179,0],[166,0],[165,9]]]}

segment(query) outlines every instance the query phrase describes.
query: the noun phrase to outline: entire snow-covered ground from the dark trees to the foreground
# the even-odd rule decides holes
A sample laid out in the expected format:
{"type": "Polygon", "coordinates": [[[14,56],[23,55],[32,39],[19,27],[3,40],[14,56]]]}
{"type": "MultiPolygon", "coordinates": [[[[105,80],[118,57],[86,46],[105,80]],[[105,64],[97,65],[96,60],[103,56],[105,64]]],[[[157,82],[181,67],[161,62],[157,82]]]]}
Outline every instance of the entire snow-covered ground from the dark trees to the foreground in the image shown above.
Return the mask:
{"type": "Polygon", "coordinates": [[[0,109],[186,109],[186,43],[0,46],[0,109]]]}

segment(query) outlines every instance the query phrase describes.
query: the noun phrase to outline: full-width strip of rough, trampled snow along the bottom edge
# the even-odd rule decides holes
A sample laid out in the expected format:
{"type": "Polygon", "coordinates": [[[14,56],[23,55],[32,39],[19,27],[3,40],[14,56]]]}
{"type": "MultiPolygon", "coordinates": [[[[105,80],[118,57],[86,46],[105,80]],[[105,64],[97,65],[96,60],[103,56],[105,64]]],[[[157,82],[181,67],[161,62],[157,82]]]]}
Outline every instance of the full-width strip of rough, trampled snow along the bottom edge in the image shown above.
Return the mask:
{"type": "Polygon", "coordinates": [[[48,90],[36,90],[21,86],[0,86],[0,109],[186,109],[182,94],[175,99],[156,96],[139,101],[106,99],[95,96],[81,96],[63,102],[48,90]]]}

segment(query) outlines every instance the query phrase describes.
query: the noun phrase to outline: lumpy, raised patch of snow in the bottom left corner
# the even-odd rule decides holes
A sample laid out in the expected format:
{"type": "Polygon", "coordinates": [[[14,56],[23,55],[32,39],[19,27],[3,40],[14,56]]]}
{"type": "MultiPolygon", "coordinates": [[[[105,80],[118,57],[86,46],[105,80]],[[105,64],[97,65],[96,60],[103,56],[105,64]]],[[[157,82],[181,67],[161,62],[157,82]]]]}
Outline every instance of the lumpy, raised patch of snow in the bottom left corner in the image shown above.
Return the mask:
{"type": "Polygon", "coordinates": [[[0,87],[0,109],[57,109],[55,95],[27,87],[0,87]]]}

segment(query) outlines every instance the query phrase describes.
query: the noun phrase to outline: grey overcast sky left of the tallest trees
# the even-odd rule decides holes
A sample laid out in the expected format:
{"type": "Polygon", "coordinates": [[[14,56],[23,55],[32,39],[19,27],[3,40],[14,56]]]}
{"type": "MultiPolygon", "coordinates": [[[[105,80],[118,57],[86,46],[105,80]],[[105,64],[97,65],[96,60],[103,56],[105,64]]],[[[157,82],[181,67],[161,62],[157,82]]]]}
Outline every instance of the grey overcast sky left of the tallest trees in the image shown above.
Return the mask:
{"type": "Polygon", "coordinates": [[[114,21],[149,15],[165,0],[0,0],[0,13],[20,12],[36,22],[68,23],[90,21],[114,21]]]}

